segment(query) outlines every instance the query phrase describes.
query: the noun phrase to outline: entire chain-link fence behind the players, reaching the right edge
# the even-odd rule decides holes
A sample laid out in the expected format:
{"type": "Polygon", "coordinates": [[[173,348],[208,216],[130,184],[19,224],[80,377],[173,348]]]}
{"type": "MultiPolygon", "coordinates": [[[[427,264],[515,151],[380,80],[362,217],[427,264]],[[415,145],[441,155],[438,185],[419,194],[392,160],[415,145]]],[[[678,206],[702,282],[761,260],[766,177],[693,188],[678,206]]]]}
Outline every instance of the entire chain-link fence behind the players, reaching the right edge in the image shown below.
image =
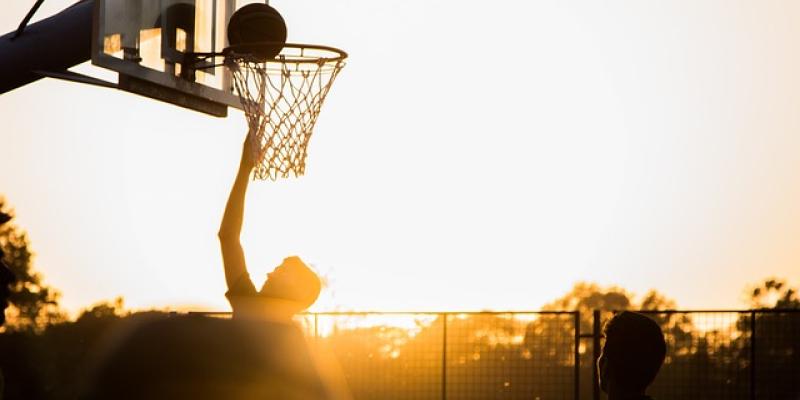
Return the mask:
{"type": "MultiPolygon", "coordinates": [[[[800,310],[640,311],[664,332],[658,399],[800,399],[800,310]]],[[[610,311],[318,313],[355,400],[603,399],[610,311]]]]}

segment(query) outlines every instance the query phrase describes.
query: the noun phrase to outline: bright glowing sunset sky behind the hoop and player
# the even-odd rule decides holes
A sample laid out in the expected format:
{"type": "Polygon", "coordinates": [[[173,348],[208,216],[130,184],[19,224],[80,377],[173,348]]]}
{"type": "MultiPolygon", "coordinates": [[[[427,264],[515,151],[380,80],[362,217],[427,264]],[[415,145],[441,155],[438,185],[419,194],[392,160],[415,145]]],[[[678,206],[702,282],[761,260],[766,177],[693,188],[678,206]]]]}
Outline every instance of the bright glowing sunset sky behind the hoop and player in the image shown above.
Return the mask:
{"type": "MultiPolygon", "coordinates": [[[[800,284],[800,2],[270,4],[351,57],[306,176],[250,185],[257,285],[290,254],[329,281],[316,310],[535,310],[579,280],[739,308],[800,284]]],[[[68,310],[228,309],[241,112],[45,79],[0,120],[0,195],[68,310]]]]}

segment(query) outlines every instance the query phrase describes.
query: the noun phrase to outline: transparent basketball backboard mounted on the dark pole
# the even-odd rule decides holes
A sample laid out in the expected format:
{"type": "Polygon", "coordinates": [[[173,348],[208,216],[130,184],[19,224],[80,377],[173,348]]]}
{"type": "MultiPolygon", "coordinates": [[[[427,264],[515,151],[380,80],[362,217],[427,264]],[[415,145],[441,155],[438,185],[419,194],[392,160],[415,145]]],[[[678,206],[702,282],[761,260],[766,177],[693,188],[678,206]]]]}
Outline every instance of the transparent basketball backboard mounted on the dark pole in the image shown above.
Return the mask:
{"type": "Polygon", "coordinates": [[[231,15],[253,2],[95,0],[92,63],[118,72],[122,90],[224,117],[241,108],[229,71],[189,70],[183,57],[222,51],[231,15]]]}

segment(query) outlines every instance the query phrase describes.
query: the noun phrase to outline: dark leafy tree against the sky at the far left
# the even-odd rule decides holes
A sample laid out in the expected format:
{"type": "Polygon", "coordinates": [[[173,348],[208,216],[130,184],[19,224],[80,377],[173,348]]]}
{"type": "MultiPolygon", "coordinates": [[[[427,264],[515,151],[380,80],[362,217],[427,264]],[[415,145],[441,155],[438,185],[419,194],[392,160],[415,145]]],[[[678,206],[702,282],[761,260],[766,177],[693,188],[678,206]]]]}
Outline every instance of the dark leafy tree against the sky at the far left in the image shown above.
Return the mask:
{"type": "MultiPolygon", "coordinates": [[[[4,199],[0,199],[0,213],[13,218],[4,199]]],[[[0,248],[17,277],[17,282],[11,285],[5,329],[41,332],[48,324],[64,321],[65,315],[58,305],[61,294],[43,283],[42,275],[34,271],[33,253],[25,231],[13,221],[0,225],[0,248]]]]}

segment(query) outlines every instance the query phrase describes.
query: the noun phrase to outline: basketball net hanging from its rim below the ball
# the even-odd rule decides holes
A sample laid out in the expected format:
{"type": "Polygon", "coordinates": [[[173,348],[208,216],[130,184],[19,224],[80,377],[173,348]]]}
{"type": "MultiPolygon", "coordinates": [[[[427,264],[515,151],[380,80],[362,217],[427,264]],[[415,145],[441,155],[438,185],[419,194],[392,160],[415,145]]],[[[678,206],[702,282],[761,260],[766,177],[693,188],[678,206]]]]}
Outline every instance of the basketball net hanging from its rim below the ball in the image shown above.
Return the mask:
{"type": "Polygon", "coordinates": [[[266,62],[248,55],[226,62],[247,116],[256,160],[253,179],[305,173],[309,139],[325,96],[344,67],[344,58],[325,58],[303,45],[286,45],[266,62]]]}

